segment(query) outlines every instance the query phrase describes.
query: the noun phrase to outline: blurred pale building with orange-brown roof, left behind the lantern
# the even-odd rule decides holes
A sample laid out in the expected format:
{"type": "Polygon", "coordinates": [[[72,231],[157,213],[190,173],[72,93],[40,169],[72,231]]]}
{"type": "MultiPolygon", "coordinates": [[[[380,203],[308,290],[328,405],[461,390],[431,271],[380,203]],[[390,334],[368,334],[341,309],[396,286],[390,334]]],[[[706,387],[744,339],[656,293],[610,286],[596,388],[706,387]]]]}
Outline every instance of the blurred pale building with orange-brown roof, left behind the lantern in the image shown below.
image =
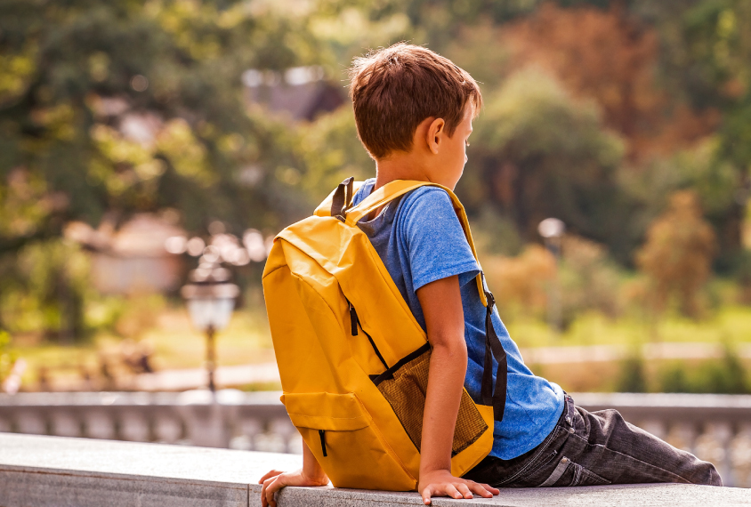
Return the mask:
{"type": "Polygon", "coordinates": [[[141,213],[115,230],[109,221],[98,229],[72,222],[69,237],[92,253],[93,285],[102,294],[161,293],[182,282],[181,255],[170,254],[165,245],[185,231],[157,215],[141,213]]]}

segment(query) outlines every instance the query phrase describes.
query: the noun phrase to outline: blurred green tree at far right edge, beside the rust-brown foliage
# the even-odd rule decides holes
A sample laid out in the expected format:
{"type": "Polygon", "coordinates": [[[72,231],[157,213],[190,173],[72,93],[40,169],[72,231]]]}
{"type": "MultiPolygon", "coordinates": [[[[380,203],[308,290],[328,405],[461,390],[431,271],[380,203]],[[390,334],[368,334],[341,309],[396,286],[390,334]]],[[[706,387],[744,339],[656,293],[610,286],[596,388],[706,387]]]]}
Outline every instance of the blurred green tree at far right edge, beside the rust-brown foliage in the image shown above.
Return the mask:
{"type": "Polygon", "coordinates": [[[723,206],[707,209],[707,218],[717,231],[718,267],[729,270],[742,255],[742,227],[751,195],[751,4],[745,0],[631,4],[634,13],[661,35],[659,75],[666,88],[694,108],[721,113],[714,165],[723,173],[731,169],[733,190],[723,206]]]}

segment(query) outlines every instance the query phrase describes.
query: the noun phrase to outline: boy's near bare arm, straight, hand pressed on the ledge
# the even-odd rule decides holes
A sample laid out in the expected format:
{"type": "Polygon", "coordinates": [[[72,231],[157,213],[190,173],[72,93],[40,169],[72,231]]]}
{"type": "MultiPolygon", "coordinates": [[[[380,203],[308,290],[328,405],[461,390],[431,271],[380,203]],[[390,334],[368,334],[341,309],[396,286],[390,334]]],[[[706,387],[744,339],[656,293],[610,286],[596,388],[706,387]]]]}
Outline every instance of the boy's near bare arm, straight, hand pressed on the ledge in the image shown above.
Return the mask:
{"type": "Polygon", "coordinates": [[[441,278],[420,287],[417,299],[432,345],[417,491],[425,504],[431,503],[431,496],[472,498],[472,493],[476,493],[489,498],[497,495],[499,491],[495,487],[451,475],[451,446],[467,368],[458,276],[441,278]]]}

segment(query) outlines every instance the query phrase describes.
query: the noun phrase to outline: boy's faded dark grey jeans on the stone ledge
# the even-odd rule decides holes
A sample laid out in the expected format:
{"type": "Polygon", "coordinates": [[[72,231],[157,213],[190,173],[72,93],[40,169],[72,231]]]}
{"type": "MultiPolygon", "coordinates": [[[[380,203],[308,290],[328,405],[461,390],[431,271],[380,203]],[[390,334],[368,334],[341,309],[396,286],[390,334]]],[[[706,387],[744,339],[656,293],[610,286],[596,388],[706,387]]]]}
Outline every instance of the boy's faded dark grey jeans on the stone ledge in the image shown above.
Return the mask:
{"type": "Polygon", "coordinates": [[[587,412],[568,395],[561,419],[542,444],[512,460],[488,456],[464,478],[493,487],[647,482],[723,486],[712,463],[624,421],[616,410],[587,412]]]}

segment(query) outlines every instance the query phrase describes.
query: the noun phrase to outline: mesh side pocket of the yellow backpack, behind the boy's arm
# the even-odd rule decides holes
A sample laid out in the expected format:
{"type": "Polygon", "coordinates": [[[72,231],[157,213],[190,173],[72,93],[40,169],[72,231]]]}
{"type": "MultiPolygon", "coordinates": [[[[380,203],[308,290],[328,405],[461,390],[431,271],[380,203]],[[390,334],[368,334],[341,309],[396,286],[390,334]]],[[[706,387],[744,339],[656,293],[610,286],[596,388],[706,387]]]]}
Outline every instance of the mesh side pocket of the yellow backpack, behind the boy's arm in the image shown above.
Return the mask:
{"type": "MultiPolygon", "coordinates": [[[[420,451],[423,435],[423,413],[430,358],[430,346],[426,344],[408,357],[401,359],[384,374],[377,375],[373,379],[378,390],[392,406],[401,425],[407,431],[409,439],[417,447],[417,451],[420,451]]],[[[462,390],[451,456],[470,447],[487,430],[488,424],[474,406],[469,393],[462,390]]]]}

